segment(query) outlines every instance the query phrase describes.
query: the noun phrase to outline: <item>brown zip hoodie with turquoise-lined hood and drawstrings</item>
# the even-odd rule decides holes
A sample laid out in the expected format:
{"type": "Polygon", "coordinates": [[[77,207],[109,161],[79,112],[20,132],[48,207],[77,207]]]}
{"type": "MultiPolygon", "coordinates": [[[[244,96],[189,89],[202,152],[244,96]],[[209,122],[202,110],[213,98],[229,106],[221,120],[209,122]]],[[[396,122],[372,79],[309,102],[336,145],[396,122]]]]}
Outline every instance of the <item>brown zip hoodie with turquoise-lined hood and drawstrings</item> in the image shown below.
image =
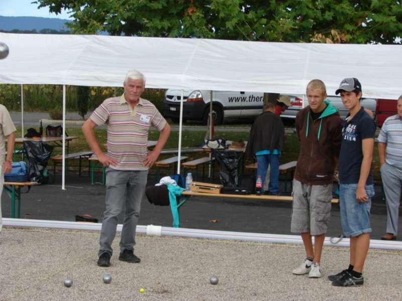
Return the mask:
{"type": "Polygon", "coordinates": [[[342,142],[342,119],[338,110],[327,107],[313,121],[310,106],[296,115],[295,127],[300,141],[294,179],[308,185],[327,185],[334,181],[334,170],[342,142]]]}

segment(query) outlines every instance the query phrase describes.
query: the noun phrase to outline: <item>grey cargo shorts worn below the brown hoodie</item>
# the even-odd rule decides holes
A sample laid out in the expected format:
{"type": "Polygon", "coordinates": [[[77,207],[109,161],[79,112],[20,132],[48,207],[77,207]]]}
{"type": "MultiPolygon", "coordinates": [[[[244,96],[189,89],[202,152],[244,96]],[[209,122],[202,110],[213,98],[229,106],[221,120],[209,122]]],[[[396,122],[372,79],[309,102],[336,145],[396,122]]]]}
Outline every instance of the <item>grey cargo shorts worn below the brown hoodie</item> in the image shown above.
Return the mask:
{"type": "Polygon", "coordinates": [[[331,215],[332,184],[307,185],[293,180],[292,196],[290,231],[325,234],[331,215]]]}

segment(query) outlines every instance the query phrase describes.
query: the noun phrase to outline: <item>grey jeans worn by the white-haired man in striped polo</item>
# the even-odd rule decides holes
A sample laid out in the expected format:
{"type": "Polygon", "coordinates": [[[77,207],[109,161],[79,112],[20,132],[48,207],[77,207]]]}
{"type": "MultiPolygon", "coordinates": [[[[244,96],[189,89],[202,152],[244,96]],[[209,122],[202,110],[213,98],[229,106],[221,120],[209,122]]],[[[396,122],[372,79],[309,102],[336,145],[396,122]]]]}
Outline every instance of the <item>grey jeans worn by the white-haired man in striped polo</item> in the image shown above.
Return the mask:
{"type": "Polygon", "coordinates": [[[106,209],[100,230],[99,253],[112,255],[112,242],[116,236],[118,217],[123,208],[124,221],[120,239],[120,252],[133,250],[141,201],[144,198],[148,171],[106,170],[106,209]]]}

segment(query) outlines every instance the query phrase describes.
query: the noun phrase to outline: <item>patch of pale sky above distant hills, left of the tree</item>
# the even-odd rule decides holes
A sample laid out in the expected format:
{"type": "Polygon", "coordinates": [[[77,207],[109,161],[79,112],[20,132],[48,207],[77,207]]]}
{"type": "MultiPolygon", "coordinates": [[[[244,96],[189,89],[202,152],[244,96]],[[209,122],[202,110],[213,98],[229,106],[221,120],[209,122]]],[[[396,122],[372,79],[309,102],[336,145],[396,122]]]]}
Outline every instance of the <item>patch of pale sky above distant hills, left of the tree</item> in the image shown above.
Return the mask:
{"type": "Polygon", "coordinates": [[[45,17],[45,18],[59,18],[69,19],[68,14],[50,14],[48,8],[41,8],[38,10],[37,4],[32,4],[35,0],[0,0],[0,16],[20,17],[45,17]]]}

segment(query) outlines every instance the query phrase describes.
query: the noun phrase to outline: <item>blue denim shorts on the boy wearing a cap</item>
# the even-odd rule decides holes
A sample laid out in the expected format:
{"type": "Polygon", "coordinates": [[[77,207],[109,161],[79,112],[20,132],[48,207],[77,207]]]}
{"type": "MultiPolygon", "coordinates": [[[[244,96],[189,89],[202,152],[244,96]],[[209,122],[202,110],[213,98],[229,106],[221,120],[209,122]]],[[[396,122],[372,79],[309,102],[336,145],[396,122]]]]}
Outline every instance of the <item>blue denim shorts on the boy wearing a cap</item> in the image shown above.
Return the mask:
{"type": "Polygon", "coordinates": [[[374,196],[374,185],[366,185],[368,200],[359,203],[356,200],[357,184],[340,185],[341,223],[345,236],[359,236],[370,233],[370,208],[371,198],[374,196]]]}

